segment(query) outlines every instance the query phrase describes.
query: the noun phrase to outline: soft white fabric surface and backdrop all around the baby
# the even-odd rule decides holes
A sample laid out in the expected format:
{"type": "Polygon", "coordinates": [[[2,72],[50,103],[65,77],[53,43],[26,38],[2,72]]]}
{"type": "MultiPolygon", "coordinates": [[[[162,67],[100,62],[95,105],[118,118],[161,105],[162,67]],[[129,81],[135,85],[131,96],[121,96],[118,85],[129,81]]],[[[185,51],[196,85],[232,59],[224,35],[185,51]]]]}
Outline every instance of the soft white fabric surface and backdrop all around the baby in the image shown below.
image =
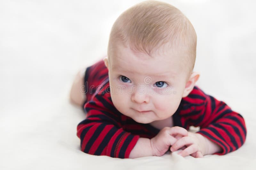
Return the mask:
{"type": "MultiPolygon", "coordinates": [[[[140,1],[0,1],[0,169],[254,169],[254,1],[166,1],[197,32],[196,83],[245,119],[244,145],[227,155],[118,159],[80,151],[85,118],[69,103],[79,68],[107,53],[118,15],[140,1]]],[[[198,130],[191,127],[191,130],[198,130]]]]}

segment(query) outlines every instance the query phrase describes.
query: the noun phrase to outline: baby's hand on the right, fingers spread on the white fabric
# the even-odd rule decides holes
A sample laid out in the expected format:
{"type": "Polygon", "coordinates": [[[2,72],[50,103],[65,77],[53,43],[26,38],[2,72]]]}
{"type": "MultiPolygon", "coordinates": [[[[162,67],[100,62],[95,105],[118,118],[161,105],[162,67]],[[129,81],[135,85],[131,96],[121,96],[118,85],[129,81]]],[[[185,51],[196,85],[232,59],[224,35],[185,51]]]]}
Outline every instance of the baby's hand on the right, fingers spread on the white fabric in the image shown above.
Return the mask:
{"type": "Polygon", "coordinates": [[[172,152],[177,151],[181,147],[187,147],[178,154],[183,157],[191,155],[194,158],[203,158],[206,149],[205,144],[200,141],[196,133],[188,132],[188,136],[181,137],[180,135],[177,135],[175,138],[177,138],[177,141],[170,149],[172,152]]]}

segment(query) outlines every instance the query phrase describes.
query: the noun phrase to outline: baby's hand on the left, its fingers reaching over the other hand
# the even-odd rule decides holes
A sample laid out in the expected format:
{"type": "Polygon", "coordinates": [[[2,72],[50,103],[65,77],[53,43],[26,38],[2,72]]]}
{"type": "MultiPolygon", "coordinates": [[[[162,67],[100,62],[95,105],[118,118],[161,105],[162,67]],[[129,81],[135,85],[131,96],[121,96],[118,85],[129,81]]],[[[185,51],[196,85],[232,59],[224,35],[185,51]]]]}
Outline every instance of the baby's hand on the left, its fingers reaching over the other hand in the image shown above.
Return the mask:
{"type": "Polygon", "coordinates": [[[158,134],[150,139],[153,156],[162,156],[177,139],[175,135],[188,136],[188,131],[182,127],[164,127],[158,134]]]}

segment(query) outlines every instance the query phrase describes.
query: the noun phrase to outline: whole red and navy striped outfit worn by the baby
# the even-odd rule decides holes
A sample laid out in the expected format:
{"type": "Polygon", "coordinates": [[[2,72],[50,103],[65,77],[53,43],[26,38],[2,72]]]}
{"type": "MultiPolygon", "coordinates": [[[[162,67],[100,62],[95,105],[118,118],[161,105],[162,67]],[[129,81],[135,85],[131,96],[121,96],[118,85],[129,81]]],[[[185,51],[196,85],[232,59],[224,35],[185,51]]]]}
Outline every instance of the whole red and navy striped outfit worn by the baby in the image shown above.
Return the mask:
{"type": "MultiPolygon", "coordinates": [[[[160,131],[150,124],[135,122],[112,103],[108,69],[103,60],[87,67],[85,73],[86,118],[77,125],[81,150],[92,155],[129,158],[138,139],[153,138],[160,131]]],[[[183,97],[172,115],[173,126],[200,127],[200,133],[221,146],[224,155],[241,147],[246,138],[244,118],[224,102],[205,94],[198,86],[183,97]]]]}

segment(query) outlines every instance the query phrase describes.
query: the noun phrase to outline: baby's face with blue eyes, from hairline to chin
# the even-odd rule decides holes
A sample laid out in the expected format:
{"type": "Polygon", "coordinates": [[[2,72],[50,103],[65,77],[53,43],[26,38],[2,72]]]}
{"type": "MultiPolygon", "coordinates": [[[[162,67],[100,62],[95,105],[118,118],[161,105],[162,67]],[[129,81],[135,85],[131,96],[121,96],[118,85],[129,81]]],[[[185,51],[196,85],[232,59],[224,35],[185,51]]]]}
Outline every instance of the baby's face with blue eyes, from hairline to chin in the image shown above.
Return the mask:
{"type": "Polygon", "coordinates": [[[118,46],[108,63],[111,99],[116,109],[143,124],[171,117],[186,84],[181,55],[164,51],[151,57],[118,46]]]}

